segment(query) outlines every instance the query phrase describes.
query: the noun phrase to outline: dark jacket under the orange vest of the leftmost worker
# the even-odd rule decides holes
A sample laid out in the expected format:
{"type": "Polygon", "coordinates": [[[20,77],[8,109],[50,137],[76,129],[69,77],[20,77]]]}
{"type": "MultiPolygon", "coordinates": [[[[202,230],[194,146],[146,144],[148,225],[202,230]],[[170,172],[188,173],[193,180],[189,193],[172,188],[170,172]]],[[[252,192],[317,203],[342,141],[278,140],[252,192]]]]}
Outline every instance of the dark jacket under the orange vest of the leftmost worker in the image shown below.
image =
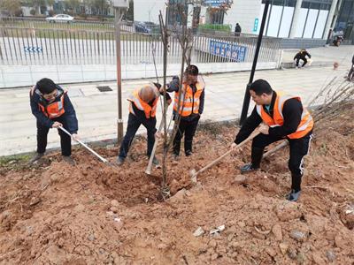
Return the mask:
{"type": "MultiPolygon", "coordinates": [[[[58,89],[58,95],[57,98],[63,95],[64,90],[57,85],[58,89]]],[[[31,93],[29,94],[30,98],[30,104],[31,104],[31,110],[37,121],[48,128],[51,128],[51,126],[54,124],[54,121],[51,120],[49,117],[46,117],[43,113],[42,110],[39,108],[38,104],[46,104],[47,101],[42,97],[41,93],[37,88],[35,88],[35,91],[33,95],[31,93]]],[[[76,113],[75,110],[73,109],[73,104],[69,99],[69,96],[65,93],[64,94],[64,110],[65,113],[63,116],[65,118],[66,124],[68,126],[67,130],[69,133],[77,133],[78,131],[78,120],[76,118],[76,113]]],[[[55,120],[55,119],[54,119],[55,120]]]]}

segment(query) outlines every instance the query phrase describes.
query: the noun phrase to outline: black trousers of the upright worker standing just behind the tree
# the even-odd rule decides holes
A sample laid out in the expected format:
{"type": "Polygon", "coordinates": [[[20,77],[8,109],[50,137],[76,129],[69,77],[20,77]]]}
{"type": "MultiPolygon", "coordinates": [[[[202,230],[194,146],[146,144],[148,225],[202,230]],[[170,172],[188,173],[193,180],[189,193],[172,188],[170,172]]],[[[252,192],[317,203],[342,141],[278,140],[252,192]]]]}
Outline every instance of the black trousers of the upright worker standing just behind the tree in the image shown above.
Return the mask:
{"type": "Polygon", "coordinates": [[[184,136],[184,153],[190,155],[192,152],[193,137],[196,134],[196,126],[198,125],[200,116],[192,120],[181,119],[180,125],[178,126],[178,131],[173,139],[173,154],[180,155],[181,139],[184,136]]]}

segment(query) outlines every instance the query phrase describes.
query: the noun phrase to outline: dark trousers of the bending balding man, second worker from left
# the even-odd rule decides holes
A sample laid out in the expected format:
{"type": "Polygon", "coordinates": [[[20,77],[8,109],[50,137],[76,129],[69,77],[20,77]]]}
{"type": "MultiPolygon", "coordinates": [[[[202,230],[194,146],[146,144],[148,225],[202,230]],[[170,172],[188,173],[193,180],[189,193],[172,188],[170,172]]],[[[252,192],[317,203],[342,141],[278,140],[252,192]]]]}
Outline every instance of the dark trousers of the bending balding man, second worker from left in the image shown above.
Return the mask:
{"type": "Polygon", "coordinates": [[[136,117],[134,114],[129,113],[129,117],[127,119],[127,133],[124,135],[124,139],[120,145],[119,149],[119,157],[126,158],[127,151],[132,144],[132,141],[135,137],[136,131],[139,129],[140,125],[144,125],[146,130],[148,131],[148,151],[147,155],[151,155],[152,148],[155,143],[155,133],[158,131],[156,129],[156,117],[136,117]]]}

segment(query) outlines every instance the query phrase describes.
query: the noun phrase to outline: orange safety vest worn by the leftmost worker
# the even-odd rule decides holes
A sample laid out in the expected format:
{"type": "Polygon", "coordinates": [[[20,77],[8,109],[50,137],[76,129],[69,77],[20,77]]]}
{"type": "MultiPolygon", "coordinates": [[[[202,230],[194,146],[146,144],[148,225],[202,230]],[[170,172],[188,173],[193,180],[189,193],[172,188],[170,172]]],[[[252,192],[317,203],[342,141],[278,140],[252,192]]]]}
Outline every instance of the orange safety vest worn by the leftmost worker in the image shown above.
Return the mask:
{"type": "MultiPolygon", "coordinates": [[[[65,113],[64,95],[67,93],[67,91],[62,91],[62,90],[58,90],[58,91],[59,94],[56,96],[54,102],[51,102],[49,104],[38,103],[39,109],[46,117],[49,117],[50,119],[55,117],[60,117],[65,113]]],[[[40,97],[42,98],[41,93],[38,90],[35,90],[35,87],[32,87],[31,95],[34,95],[34,93],[40,95],[40,97]]]]}

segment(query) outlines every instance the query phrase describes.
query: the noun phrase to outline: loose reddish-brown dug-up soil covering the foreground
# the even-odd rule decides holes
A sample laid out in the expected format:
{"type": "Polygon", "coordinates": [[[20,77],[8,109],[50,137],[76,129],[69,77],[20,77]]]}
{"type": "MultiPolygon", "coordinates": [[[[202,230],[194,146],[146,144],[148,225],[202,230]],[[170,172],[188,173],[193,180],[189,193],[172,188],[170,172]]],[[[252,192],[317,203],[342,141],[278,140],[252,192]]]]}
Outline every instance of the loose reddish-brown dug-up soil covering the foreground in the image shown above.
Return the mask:
{"type": "MultiPolygon", "coordinates": [[[[0,264],[352,264],[353,120],[323,127],[305,158],[297,203],[285,200],[287,148],[241,179],[249,144],[191,183],[189,170],[227,151],[235,126],[208,126],[192,158],[169,158],[167,201],[159,200],[161,170],[144,174],[144,140],[120,168],[82,149],[73,152],[74,167],[58,154],[31,168],[9,163],[0,177],[0,264]],[[198,227],[204,234],[196,237],[198,227]]],[[[97,151],[110,160],[117,154],[97,151]]]]}

